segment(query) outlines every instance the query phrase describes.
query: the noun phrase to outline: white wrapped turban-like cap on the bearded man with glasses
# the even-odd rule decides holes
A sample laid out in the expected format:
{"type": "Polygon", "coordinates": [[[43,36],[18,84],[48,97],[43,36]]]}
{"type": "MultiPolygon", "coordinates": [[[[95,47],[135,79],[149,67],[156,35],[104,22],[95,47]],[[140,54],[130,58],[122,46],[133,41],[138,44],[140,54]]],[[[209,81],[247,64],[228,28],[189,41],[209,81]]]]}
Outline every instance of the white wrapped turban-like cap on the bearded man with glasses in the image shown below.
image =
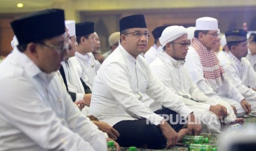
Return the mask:
{"type": "Polygon", "coordinates": [[[166,43],[181,37],[183,34],[188,34],[186,28],[183,26],[169,26],[162,31],[162,35],[159,38],[160,44],[164,47],[166,43]]]}

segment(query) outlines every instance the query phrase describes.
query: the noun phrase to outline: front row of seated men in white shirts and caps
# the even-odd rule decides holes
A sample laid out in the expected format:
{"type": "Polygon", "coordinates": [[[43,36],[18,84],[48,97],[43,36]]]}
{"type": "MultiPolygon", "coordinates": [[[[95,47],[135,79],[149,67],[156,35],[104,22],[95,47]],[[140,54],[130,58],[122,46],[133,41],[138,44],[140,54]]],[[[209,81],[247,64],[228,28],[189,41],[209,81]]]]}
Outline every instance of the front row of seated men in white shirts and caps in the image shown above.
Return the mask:
{"type": "Polygon", "coordinates": [[[225,72],[213,51],[214,18],[196,20],[192,47],[186,28],[162,28],[159,57],[150,65],[140,55],[150,37],[143,15],[119,21],[120,45],[101,65],[91,53],[94,22],[65,24],[59,9],[12,22],[19,44],[0,64],[3,150],[106,150],[101,131],[123,147],[165,148],[184,135],[221,133],[221,124],[255,115],[255,73],[249,64],[244,69],[243,30],[226,32],[237,60],[225,72]],[[97,126],[88,115],[99,119],[92,119],[97,126]]]}

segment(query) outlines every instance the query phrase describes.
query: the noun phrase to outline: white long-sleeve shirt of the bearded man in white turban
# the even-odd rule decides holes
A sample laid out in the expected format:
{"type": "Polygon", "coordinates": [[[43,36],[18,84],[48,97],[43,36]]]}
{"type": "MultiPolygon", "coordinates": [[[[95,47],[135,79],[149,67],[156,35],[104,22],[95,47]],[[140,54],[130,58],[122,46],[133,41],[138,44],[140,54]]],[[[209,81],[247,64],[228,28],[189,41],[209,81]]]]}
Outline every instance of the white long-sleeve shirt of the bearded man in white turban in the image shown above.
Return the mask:
{"type": "Polygon", "coordinates": [[[172,89],[177,95],[183,97],[184,103],[189,108],[203,108],[209,111],[209,98],[201,92],[191,79],[184,61],[177,61],[165,53],[150,63],[152,73],[161,80],[165,86],[172,89]],[[195,101],[193,101],[193,100],[195,101]],[[198,102],[196,102],[198,101],[198,102]]]}

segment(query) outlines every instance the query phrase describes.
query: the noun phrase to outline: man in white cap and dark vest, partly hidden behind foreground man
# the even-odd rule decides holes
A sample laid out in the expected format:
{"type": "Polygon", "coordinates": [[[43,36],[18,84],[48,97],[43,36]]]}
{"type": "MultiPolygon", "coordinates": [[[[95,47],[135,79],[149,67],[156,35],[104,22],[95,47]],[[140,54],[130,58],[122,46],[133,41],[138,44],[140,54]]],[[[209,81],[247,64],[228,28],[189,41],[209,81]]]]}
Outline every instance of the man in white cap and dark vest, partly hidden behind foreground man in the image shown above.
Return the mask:
{"type": "Polygon", "coordinates": [[[85,89],[88,88],[88,86],[83,82],[83,80],[79,78],[80,75],[79,73],[77,73],[77,71],[81,71],[81,69],[77,58],[74,57],[75,51],[77,50],[77,38],[75,36],[75,21],[66,20],[65,25],[67,26],[68,30],[67,38],[70,39],[70,47],[67,56],[68,60],[65,59],[65,64],[63,63],[64,65],[62,65],[62,67],[59,69],[61,71],[61,76],[63,78],[65,87],[68,88],[67,91],[69,92],[69,95],[71,97],[74,94],[75,99],[73,100],[72,98],[72,100],[75,101],[75,104],[78,105],[78,107],[81,109],[81,112],[88,116],[91,119],[91,121],[99,127],[101,131],[106,132],[108,137],[112,138],[113,140],[116,140],[119,136],[119,133],[115,129],[113,129],[112,126],[102,121],[96,120],[94,116],[88,114],[91,101],[91,91],[89,91],[90,94],[84,94],[85,91],[88,92],[88,90],[85,89]],[[61,69],[63,69],[63,71],[61,69]],[[79,95],[81,95],[80,99],[83,100],[82,103],[80,103],[79,101],[79,95]],[[86,104],[86,106],[84,105],[84,103],[86,104]]]}

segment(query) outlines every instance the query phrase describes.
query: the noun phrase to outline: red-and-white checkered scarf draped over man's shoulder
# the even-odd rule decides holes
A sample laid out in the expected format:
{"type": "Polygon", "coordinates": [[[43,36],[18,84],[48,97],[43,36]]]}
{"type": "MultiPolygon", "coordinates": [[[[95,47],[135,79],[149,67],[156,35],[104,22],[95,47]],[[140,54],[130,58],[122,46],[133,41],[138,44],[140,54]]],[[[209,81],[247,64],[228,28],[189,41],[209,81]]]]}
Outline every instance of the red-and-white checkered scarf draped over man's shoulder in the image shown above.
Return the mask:
{"type": "Polygon", "coordinates": [[[201,65],[203,66],[204,78],[212,88],[222,85],[222,80],[226,80],[225,71],[220,65],[214,50],[208,51],[204,45],[197,39],[192,39],[192,47],[197,51],[201,65]]]}

